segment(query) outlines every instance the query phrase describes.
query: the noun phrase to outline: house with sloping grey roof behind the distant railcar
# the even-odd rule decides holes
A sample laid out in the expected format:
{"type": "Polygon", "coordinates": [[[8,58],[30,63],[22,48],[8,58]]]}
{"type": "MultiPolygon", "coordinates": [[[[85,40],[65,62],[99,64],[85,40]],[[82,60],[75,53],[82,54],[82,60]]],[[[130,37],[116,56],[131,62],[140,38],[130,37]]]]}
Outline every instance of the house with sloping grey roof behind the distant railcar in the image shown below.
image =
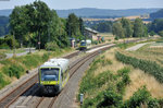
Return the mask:
{"type": "Polygon", "coordinates": [[[85,36],[89,39],[98,40],[98,32],[92,28],[85,27],[85,36]]]}

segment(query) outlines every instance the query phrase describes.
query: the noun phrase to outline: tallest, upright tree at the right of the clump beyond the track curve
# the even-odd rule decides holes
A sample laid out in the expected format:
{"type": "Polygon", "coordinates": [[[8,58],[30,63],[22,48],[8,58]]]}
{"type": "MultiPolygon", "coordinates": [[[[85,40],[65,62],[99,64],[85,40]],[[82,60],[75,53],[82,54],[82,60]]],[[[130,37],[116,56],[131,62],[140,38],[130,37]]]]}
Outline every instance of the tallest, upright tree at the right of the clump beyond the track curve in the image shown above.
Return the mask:
{"type": "Polygon", "coordinates": [[[143,23],[141,19],[136,19],[134,22],[134,34],[133,37],[145,36],[143,23]]]}

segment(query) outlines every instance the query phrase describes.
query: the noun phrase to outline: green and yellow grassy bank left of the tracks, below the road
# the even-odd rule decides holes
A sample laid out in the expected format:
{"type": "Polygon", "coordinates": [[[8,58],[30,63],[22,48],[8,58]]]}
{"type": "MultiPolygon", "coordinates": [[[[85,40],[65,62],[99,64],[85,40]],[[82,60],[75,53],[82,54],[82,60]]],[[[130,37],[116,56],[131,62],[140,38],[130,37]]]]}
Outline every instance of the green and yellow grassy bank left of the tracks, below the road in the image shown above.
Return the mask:
{"type": "Polygon", "coordinates": [[[59,57],[73,49],[66,48],[57,51],[36,51],[22,57],[13,57],[0,61],[0,88],[20,79],[27,70],[32,70],[42,64],[49,58],[59,57]]]}

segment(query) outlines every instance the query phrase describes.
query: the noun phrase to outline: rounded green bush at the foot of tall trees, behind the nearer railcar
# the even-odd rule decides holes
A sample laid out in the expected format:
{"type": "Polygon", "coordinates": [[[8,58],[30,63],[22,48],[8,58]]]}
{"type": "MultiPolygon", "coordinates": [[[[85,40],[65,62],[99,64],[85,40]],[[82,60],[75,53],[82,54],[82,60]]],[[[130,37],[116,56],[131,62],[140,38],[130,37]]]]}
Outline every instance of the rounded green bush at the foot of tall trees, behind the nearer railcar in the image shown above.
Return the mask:
{"type": "Polygon", "coordinates": [[[59,46],[55,41],[50,41],[46,44],[46,50],[57,51],[59,49],[59,46]]]}

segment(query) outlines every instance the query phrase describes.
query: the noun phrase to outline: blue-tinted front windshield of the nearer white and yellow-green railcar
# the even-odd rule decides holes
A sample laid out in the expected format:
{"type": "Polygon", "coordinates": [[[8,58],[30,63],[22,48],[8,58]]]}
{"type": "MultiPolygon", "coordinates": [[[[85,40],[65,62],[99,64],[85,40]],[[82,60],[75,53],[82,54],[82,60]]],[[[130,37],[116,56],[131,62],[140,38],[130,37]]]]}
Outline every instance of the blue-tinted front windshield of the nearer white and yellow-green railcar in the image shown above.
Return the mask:
{"type": "Polygon", "coordinates": [[[41,69],[41,81],[59,81],[60,69],[41,69]]]}

